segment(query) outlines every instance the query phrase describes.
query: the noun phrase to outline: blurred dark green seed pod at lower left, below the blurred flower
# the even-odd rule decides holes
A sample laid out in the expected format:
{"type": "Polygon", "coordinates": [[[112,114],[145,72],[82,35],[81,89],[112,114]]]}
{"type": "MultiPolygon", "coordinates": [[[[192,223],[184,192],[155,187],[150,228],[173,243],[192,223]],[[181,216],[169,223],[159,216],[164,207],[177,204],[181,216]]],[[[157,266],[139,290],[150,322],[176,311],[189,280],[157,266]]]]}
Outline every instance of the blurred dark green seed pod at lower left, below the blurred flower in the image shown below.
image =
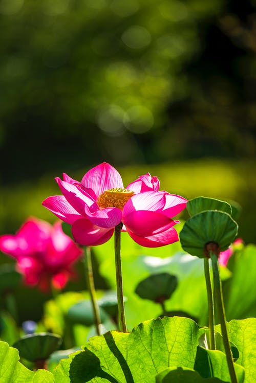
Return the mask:
{"type": "Polygon", "coordinates": [[[19,356],[35,362],[48,359],[52,352],[59,349],[61,342],[62,339],[57,334],[38,332],[22,336],[12,347],[18,349],[19,356]]]}

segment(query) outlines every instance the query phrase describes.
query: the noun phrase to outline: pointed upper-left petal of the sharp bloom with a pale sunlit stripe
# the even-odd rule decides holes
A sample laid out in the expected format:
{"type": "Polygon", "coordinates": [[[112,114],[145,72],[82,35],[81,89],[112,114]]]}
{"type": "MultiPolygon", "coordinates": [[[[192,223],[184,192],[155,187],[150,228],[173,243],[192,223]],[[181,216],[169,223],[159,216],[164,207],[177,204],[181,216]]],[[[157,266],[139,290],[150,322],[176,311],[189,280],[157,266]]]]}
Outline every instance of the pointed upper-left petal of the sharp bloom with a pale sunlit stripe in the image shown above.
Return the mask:
{"type": "Polygon", "coordinates": [[[84,190],[82,190],[79,186],[75,184],[69,184],[68,182],[61,181],[60,178],[55,178],[57,184],[63,194],[63,196],[67,199],[73,208],[80,213],[84,214],[84,206],[92,206],[95,204],[95,201],[92,197],[84,190]]]}

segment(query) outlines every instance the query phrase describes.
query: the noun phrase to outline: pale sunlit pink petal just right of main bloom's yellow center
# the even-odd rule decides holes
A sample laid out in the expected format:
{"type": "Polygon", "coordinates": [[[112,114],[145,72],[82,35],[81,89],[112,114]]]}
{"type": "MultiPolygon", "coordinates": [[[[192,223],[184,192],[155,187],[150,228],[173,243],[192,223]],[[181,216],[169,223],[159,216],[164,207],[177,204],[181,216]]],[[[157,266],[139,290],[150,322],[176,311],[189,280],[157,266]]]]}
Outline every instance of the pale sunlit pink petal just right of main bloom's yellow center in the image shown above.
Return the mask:
{"type": "Polygon", "coordinates": [[[132,195],[123,207],[123,216],[127,216],[136,210],[161,212],[165,206],[165,193],[149,191],[132,195]]]}

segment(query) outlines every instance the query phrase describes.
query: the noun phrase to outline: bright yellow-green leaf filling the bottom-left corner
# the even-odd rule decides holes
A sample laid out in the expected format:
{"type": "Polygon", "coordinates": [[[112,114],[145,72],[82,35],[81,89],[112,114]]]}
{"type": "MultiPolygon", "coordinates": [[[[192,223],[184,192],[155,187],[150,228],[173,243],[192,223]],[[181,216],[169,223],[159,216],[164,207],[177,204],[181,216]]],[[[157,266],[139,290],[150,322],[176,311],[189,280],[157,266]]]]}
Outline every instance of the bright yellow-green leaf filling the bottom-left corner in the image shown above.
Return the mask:
{"type": "Polygon", "coordinates": [[[51,372],[28,370],[19,362],[18,350],[0,342],[0,381],[1,383],[53,383],[51,372]]]}

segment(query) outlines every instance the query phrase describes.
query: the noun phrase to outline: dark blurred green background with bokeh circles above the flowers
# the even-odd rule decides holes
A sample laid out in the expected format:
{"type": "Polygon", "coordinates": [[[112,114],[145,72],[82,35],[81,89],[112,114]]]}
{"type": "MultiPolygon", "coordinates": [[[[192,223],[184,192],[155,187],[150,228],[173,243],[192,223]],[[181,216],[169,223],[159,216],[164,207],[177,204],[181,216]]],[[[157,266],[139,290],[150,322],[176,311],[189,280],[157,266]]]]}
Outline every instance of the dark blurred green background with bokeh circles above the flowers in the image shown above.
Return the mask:
{"type": "Polygon", "coordinates": [[[255,0],[0,0],[0,27],[1,233],[106,161],[238,201],[255,240],[255,0]]]}

